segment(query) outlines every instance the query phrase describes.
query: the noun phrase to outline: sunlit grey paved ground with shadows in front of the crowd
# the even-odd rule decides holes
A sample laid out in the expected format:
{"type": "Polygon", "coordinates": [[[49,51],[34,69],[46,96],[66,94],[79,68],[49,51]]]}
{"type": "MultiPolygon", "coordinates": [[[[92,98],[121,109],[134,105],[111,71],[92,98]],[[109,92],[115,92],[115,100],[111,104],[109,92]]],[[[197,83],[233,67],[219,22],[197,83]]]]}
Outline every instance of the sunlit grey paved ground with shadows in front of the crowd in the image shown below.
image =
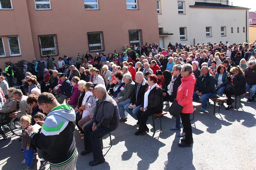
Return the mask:
{"type": "MultiPolygon", "coordinates": [[[[195,111],[193,126],[194,144],[192,147],[180,148],[180,131],[170,131],[175,126],[174,117],[168,113],[162,118],[163,131],[156,132],[154,137],[152,118],[148,119],[150,130],[148,135],[135,136],[138,125],[128,116],[128,121],[120,123],[118,129],[111,133],[113,146],[103,149],[106,162],[91,167],[92,153],[78,156],[76,168],[82,169],[256,169],[256,102],[247,103],[242,98],[243,108],[224,110],[221,106],[220,115],[213,116],[213,102],[210,108],[195,111]]],[[[226,106],[226,103],[224,104],[226,106]]],[[[233,103],[234,105],[234,103],[233,103]]],[[[164,106],[168,111],[169,105],[164,106]]],[[[192,116],[192,115],[191,115],[192,116]]],[[[160,129],[159,120],[156,129],[160,129]]],[[[0,169],[19,170],[24,167],[20,162],[24,153],[20,152],[21,142],[9,133],[6,140],[0,138],[0,169]]],[[[76,130],[76,147],[79,153],[83,150],[83,140],[76,130]]],[[[103,140],[104,147],[109,145],[109,137],[103,140]]],[[[32,169],[38,169],[40,161],[35,160],[32,169]]],[[[48,169],[49,165],[45,169],[48,169]]]]}

